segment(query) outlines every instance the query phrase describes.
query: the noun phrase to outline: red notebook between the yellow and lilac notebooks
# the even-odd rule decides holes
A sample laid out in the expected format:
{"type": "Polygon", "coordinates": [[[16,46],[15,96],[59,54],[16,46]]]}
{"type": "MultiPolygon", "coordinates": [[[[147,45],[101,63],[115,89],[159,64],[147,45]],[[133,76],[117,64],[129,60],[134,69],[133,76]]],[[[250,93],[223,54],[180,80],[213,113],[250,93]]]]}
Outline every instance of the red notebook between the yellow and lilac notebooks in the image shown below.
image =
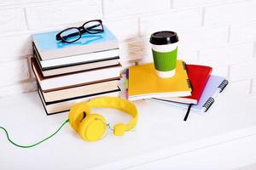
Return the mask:
{"type": "Polygon", "coordinates": [[[201,94],[207,84],[208,78],[212,73],[212,67],[205,65],[187,65],[189,80],[192,85],[192,95],[177,98],[157,98],[160,100],[174,101],[184,104],[197,104],[201,94]]]}

